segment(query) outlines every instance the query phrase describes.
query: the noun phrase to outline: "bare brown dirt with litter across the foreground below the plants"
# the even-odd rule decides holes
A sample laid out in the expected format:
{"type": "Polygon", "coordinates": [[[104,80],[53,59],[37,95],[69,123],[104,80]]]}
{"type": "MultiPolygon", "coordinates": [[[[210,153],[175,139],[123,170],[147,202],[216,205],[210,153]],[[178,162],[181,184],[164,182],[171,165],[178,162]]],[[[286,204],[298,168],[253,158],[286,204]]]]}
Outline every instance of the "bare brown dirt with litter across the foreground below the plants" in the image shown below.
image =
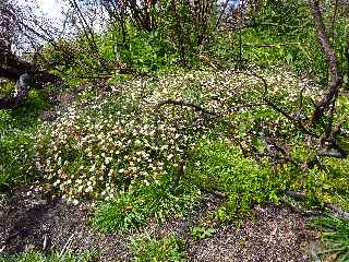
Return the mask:
{"type": "MultiPolygon", "coordinates": [[[[306,227],[305,218],[286,207],[255,206],[255,218],[242,226],[220,226],[207,239],[194,241],[191,228],[215,210],[221,200],[206,194],[201,209],[186,219],[153,222],[140,234],[174,234],[186,240],[190,261],[312,261],[308,252],[316,234],[306,227]]],[[[128,243],[136,235],[103,235],[88,227],[91,206],[77,206],[48,193],[19,190],[0,202],[0,255],[25,249],[43,251],[71,249],[76,252],[97,250],[100,261],[129,261],[128,243]]]]}

